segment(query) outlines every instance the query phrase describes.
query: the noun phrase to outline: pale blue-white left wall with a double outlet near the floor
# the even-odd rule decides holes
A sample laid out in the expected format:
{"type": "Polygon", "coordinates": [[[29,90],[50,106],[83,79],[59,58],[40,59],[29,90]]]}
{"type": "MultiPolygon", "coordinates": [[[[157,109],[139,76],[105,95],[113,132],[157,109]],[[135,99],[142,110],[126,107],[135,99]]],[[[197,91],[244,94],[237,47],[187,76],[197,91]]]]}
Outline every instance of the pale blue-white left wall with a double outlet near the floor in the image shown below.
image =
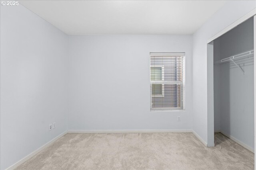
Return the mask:
{"type": "Polygon", "coordinates": [[[0,169],[6,169],[66,131],[67,35],[22,5],[0,10],[0,169]]]}

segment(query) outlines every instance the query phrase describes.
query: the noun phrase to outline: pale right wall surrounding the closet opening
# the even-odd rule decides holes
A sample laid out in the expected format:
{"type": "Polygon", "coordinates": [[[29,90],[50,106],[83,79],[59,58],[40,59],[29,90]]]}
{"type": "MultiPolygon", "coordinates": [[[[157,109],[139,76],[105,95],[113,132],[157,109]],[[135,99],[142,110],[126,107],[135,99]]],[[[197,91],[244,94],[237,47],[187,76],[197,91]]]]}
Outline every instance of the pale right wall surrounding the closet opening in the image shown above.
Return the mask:
{"type": "Polygon", "coordinates": [[[213,72],[213,69],[207,69],[207,64],[213,64],[213,59],[212,63],[207,62],[207,40],[254,8],[255,1],[227,1],[193,35],[193,130],[208,146],[214,145],[214,134],[208,133],[208,130],[213,131],[214,125],[212,123],[212,127],[207,128],[207,98],[213,98],[213,94],[207,94],[207,88],[213,88],[213,84],[207,84],[208,71],[213,72]]]}

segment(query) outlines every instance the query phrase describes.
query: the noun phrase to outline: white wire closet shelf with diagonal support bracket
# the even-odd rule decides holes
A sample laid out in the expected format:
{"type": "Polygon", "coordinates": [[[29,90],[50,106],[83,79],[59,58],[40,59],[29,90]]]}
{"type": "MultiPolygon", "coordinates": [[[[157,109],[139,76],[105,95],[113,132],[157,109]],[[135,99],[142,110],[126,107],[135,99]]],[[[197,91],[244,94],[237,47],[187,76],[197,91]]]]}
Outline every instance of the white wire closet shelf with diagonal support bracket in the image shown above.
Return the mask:
{"type": "Polygon", "coordinates": [[[254,50],[250,50],[250,51],[247,51],[247,52],[244,52],[244,53],[240,53],[238,55],[233,55],[231,57],[227,57],[225,59],[216,61],[214,64],[222,64],[222,63],[226,63],[226,62],[232,62],[243,72],[243,74],[245,74],[244,70],[241,68],[241,66],[239,64],[236,64],[235,61],[239,61],[239,60],[242,60],[242,59],[253,58],[254,57],[253,54],[254,54],[254,50]]]}

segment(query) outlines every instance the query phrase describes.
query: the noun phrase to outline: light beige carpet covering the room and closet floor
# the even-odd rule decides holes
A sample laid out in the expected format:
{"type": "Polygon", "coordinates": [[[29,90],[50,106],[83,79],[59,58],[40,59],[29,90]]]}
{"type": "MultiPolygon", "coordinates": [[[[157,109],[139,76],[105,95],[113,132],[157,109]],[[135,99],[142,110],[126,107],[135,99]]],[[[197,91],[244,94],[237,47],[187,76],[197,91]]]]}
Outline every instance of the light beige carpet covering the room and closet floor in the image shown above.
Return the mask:
{"type": "Polygon", "coordinates": [[[205,147],[192,133],[68,133],[19,170],[254,169],[254,154],[220,133],[205,147]]]}

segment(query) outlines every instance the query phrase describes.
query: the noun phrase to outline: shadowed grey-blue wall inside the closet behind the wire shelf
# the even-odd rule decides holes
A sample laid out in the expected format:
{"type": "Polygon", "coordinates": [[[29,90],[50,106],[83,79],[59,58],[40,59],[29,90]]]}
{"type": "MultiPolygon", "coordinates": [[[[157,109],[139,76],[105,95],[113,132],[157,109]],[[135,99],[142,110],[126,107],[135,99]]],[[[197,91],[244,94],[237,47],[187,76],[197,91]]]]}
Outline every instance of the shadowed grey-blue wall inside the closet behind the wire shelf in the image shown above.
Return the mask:
{"type": "MultiPolygon", "coordinates": [[[[253,18],[250,18],[219,37],[216,42],[214,40],[214,45],[219,50],[214,57],[224,59],[253,50],[253,31],[253,18]]],[[[216,81],[216,84],[219,84],[219,92],[214,91],[214,97],[216,96],[220,102],[217,103],[219,108],[214,107],[216,108],[214,112],[220,115],[219,124],[222,133],[254,149],[254,61],[251,58],[236,63],[241,66],[245,74],[234,63],[214,65],[214,72],[216,67],[220,69],[218,75],[216,74],[219,78],[214,80],[214,83],[216,81]]]]}

